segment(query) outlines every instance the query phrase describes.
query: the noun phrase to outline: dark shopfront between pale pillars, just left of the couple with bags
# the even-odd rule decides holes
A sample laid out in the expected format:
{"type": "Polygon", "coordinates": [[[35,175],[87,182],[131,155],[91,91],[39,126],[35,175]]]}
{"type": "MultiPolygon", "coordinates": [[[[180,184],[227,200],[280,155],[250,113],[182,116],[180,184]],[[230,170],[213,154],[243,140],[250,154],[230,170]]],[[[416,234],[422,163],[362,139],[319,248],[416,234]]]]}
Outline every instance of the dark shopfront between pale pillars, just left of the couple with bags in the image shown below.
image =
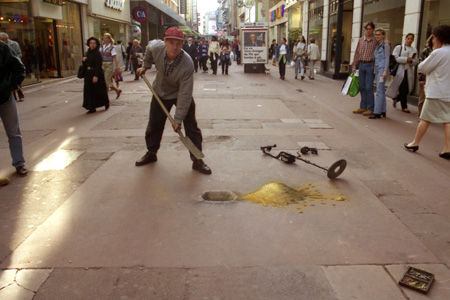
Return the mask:
{"type": "Polygon", "coordinates": [[[345,78],[350,70],[353,0],[330,0],[326,72],[345,78]]]}

